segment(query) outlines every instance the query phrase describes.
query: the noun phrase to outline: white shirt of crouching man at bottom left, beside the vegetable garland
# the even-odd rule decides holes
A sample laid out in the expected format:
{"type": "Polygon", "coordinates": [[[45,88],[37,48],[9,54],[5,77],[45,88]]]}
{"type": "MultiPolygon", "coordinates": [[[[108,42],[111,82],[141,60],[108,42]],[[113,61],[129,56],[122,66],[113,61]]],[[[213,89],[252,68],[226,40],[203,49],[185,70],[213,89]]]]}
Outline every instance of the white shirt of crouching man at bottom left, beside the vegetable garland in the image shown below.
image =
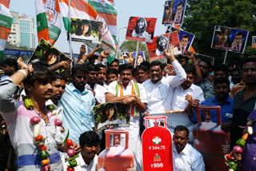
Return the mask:
{"type": "MultiPolygon", "coordinates": [[[[64,160],[64,159],[62,159],[64,160]]],[[[74,168],[75,171],[97,171],[98,170],[98,156],[95,155],[94,159],[90,161],[90,164],[87,165],[85,161],[82,158],[81,153],[79,153],[79,157],[76,158],[76,161],[78,162],[78,165],[74,168]]],[[[64,170],[66,170],[67,165],[69,165],[69,162],[65,160],[64,162],[64,170]]]]}

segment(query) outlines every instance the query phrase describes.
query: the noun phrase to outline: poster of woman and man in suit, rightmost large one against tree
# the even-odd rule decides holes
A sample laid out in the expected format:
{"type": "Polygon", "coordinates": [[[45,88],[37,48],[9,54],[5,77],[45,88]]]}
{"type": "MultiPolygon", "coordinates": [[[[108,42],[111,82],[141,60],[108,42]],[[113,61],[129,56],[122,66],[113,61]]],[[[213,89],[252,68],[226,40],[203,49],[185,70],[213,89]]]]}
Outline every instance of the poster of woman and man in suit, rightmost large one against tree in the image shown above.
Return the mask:
{"type": "Polygon", "coordinates": [[[243,54],[249,31],[215,26],[211,47],[243,54]]]}

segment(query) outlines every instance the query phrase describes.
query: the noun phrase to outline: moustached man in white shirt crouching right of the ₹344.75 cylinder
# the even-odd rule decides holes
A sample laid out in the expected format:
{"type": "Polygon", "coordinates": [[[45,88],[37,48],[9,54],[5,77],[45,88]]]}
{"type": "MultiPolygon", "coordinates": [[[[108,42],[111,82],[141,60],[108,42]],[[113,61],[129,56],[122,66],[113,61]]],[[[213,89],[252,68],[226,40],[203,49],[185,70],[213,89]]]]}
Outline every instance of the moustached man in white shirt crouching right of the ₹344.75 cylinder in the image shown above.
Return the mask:
{"type": "Polygon", "coordinates": [[[178,125],[174,129],[173,164],[174,171],[205,171],[202,154],[194,149],[189,141],[189,130],[178,125]]]}

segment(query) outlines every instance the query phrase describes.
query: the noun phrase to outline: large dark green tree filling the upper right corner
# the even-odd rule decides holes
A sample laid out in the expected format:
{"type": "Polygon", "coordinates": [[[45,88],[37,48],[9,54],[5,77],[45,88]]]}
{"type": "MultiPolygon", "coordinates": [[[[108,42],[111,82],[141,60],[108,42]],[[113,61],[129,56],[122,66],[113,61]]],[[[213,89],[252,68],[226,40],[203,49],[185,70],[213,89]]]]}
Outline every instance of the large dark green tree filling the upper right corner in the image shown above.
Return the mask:
{"type": "Polygon", "coordinates": [[[251,38],[256,34],[256,5],[254,0],[188,0],[183,29],[195,34],[193,46],[199,54],[215,57],[215,63],[222,63],[225,50],[210,48],[214,26],[227,26],[249,30],[246,50],[243,55],[228,53],[228,62],[252,56],[256,50],[250,48],[251,38]]]}

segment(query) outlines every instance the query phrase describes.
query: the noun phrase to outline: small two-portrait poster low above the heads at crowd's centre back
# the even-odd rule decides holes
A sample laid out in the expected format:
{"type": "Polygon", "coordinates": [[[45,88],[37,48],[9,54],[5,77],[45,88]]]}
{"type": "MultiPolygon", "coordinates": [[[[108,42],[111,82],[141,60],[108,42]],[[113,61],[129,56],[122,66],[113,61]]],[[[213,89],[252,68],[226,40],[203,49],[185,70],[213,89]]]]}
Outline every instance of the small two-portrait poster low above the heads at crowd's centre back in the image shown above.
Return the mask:
{"type": "MultiPolygon", "coordinates": [[[[122,52],[122,61],[123,63],[132,63],[135,60],[136,52],[122,52]]],[[[137,63],[146,61],[144,52],[138,52],[137,54],[137,63]]]]}

